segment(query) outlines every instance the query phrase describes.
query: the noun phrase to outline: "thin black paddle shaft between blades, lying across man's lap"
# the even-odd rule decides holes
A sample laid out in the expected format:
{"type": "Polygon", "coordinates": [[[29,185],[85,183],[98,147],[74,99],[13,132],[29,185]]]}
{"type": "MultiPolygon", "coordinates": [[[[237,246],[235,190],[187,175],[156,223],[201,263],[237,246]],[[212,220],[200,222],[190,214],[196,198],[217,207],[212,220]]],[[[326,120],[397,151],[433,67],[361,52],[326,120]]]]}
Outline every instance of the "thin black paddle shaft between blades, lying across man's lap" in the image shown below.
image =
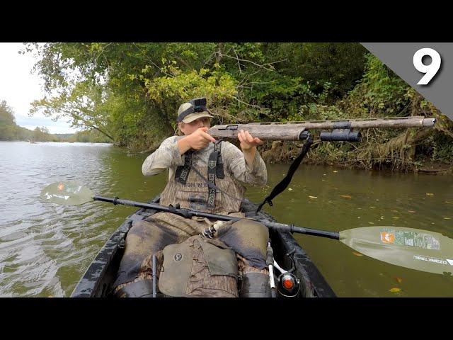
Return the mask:
{"type": "MultiPolygon", "coordinates": [[[[129,205],[130,207],[154,209],[154,210],[158,210],[158,211],[162,211],[162,212],[171,212],[172,214],[180,215],[180,216],[183,216],[186,218],[197,216],[197,217],[207,217],[212,220],[219,220],[219,221],[243,220],[243,218],[241,218],[241,217],[211,214],[209,212],[202,212],[202,211],[190,210],[190,209],[166,207],[164,205],[159,205],[156,203],[141,203],[141,202],[136,202],[134,200],[121,200],[120,198],[93,196],[93,200],[101,200],[103,202],[113,203],[115,205],[117,205],[117,204],[129,205]]],[[[253,219],[248,219],[248,220],[253,220],[253,219]]],[[[338,232],[328,232],[326,230],[296,227],[295,225],[285,225],[283,223],[271,222],[268,220],[259,220],[258,222],[263,223],[263,225],[265,225],[266,227],[268,227],[270,229],[280,230],[282,232],[297,232],[298,234],[327,237],[329,239],[340,239],[340,234],[338,232]]]]}

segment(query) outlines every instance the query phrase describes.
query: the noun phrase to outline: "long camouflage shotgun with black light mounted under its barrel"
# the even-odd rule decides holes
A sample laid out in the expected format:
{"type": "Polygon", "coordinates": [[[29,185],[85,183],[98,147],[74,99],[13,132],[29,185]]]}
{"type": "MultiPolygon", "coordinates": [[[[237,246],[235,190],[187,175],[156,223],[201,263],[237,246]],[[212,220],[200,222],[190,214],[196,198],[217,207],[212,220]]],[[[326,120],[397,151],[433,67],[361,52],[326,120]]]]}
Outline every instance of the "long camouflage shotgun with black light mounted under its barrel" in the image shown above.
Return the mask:
{"type": "Polygon", "coordinates": [[[360,132],[352,129],[368,128],[424,128],[435,125],[435,118],[423,116],[401,118],[369,118],[351,120],[309,120],[304,122],[273,122],[215,125],[207,131],[214,138],[237,139],[240,130],[248,130],[260,140],[305,140],[306,130],[331,130],[321,132],[323,141],[358,142],[360,132]],[[304,133],[305,132],[305,133],[304,133]]]}

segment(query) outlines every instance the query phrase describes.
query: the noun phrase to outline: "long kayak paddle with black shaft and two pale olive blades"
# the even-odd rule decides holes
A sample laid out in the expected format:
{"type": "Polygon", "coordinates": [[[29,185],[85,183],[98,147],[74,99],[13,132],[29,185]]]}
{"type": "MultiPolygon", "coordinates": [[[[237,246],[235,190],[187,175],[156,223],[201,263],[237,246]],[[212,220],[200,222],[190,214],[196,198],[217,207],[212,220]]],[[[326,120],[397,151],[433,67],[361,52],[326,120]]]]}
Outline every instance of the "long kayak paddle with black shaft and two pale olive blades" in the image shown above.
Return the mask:
{"type": "MultiPolygon", "coordinates": [[[[96,196],[89,188],[69,181],[52,183],[50,186],[45,187],[42,189],[41,198],[47,202],[62,205],[81,205],[91,200],[101,200],[115,205],[121,204],[171,212],[188,218],[200,216],[222,221],[241,220],[241,217],[211,214],[173,206],[166,207],[156,203],[140,203],[133,200],[122,200],[117,197],[96,196]]],[[[258,220],[258,222],[263,223],[270,229],[338,239],[343,244],[355,249],[355,251],[396,266],[428,273],[445,275],[452,275],[453,273],[453,239],[438,232],[407,227],[359,227],[343,230],[342,232],[329,232],[285,225],[270,220],[258,220]]]]}

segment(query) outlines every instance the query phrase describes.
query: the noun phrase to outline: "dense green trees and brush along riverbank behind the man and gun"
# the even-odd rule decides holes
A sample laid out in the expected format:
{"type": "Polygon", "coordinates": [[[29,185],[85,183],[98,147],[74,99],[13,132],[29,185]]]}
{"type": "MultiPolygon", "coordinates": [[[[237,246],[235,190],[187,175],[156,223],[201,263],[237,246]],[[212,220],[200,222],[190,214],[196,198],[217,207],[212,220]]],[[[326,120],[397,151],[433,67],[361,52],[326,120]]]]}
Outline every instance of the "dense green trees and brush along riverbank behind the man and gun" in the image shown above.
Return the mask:
{"type": "Polygon", "coordinates": [[[358,43],[78,42],[27,48],[40,56],[35,67],[54,94],[37,101],[33,112],[69,118],[128,149],[159,145],[173,135],[180,103],[205,96],[214,123],[434,116],[441,122],[437,137],[370,129],[359,146],[318,145],[310,162],[407,171],[423,165],[420,154],[452,162],[445,147],[452,125],[358,43]]]}

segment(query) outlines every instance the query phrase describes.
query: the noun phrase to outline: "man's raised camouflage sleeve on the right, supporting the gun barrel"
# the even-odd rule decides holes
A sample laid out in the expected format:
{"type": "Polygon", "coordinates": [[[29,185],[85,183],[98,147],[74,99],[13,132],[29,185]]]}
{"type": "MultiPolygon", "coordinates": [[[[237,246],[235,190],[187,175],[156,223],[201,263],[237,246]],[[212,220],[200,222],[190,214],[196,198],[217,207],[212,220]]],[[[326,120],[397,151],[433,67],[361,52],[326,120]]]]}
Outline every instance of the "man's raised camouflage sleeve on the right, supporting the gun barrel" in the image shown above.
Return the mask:
{"type": "MultiPolygon", "coordinates": [[[[252,154],[249,153],[248,155],[252,154]]],[[[238,181],[252,186],[265,186],[268,182],[268,170],[258,150],[249,163],[246,162],[246,155],[240,149],[229,142],[223,142],[222,157],[224,164],[229,167],[229,171],[238,181]]]]}

